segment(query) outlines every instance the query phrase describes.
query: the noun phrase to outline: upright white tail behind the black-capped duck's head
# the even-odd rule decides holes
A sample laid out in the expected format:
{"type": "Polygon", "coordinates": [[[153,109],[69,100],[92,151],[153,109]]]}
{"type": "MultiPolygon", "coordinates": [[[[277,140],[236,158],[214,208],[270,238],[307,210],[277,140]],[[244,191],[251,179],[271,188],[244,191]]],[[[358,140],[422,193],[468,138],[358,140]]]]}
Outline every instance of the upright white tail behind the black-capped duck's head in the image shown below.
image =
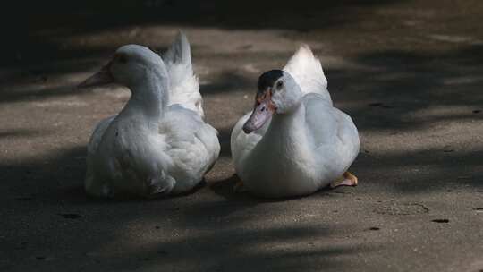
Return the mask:
{"type": "Polygon", "coordinates": [[[327,101],[332,101],[327,91],[327,79],[322,65],[309,46],[302,44],[285,65],[284,71],[292,75],[303,94],[317,93],[327,101]]]}

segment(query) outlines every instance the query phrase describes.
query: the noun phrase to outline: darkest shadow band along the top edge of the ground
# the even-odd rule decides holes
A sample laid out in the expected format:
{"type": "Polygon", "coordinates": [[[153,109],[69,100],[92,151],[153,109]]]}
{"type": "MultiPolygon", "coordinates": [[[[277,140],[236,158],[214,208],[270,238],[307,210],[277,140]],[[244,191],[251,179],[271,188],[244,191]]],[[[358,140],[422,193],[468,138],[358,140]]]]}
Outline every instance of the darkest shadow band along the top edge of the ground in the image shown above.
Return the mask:
{"type": "MultiPolygon", "coordinates": [[[[0,47],[4,68],[40,66],[56,60],[70,60],[76,64],[82,59],[98,59],[112,54],[114,45],[135,42],[139,37],[136,28],[152,25],[198,26],[228,30],[295,30],[306,32],[341,26],[357,21],[361,8],[389,5],[402,0],[344,0],[320,2],[313,0],[291,1],[83,1],[66,4],[60,1],[13,4],[10,16],[28,18],[5,29],[9,43],[0,47]],[[310,8],[308,8],[310,7],[310,8]],[[67,46],[65,41],[89,34],[131,29],[130,34],[107,38],[111,44],[103,47],[67,46]]],[[[106,35],[109,36],[109,35],[106,35]]],[[[102,42],[101,42],[102,43],[102,42]]],[[[68,65],[67,69],[69,69],[68,65]]],[[[44,68],[40,68],[44,69],[44,68]]]]}

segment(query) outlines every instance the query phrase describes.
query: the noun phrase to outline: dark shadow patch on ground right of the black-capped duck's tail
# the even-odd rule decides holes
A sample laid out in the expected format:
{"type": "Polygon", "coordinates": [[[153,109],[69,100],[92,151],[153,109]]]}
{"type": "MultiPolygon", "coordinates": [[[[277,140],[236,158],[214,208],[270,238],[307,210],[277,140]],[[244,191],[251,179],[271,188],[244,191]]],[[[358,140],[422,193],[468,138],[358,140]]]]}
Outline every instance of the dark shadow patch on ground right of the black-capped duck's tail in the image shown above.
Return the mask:
{"type": "MultiPolygon", "coordinates": [[[[438,121],[481,118],[478,115],[483,99],[478,91],[483,80],[479,77],[481,52],[483,47],[469,47],[444,55],[371,53],[360,55],[356,60],[369,65],[372,71],[329,69],[327,74],[329,78],[332,76],[331,86],[344,81],[342,92],[352,92],[355,99],[351,100],[358,101],[357,106],[349,110],[362,130],[411,131],[438,121]],[[458,72],[463,69],[462,62],[466,62],[464,72],[458,72]],[[439,67],[435,69],[435,65],[439,67]],[[460,69],[456,69],[458,66],[460,69]],[[461,106],[467,111],[418,116],[436,106],[449,109],[461,106]]],[[[339,92],[341,89],[333,91],[336,104],[339,92]]]]}

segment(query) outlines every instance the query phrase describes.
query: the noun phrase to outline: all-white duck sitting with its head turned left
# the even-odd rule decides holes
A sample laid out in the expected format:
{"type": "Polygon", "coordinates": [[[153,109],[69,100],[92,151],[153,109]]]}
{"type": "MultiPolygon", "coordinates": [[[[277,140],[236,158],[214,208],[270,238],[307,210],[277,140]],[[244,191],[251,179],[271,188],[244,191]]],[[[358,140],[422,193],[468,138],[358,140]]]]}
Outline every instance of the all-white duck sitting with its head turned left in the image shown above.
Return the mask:
{"type": "Polygon", "coordinates": [[[147,47],[120,47],[80,87],[111,82],[131,89],[131,98],[92,133],[88,194],[148,197],[190,191],[214,165],[220,144],[216,130],[202,119],[187,38],[180,33],[164,60],[147,47]]]}

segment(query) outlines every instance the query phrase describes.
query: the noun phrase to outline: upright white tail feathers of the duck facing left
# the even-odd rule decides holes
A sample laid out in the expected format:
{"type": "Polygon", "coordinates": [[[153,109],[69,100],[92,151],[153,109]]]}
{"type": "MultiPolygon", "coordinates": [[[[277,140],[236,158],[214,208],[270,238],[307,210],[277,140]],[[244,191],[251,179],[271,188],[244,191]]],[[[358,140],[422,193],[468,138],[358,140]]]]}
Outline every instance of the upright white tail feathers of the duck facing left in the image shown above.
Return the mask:
{"type": "Polygon", "coordinates": [[[179,104],[203,117],[203,99],[199,94],[198,77],[191,65],[190,42],[182,31],[161,57],[170,78],[168,105],[179,104]]]}

